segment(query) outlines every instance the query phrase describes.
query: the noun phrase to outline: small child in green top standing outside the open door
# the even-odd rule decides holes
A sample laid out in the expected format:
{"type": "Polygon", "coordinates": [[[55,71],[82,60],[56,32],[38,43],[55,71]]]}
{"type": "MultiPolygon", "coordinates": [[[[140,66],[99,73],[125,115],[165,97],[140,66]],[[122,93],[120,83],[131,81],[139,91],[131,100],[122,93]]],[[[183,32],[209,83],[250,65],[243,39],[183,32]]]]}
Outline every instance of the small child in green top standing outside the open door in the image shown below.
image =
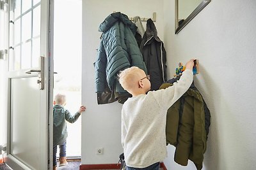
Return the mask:
{"type": "Polygon", "coordinates": [[[66,166],[68,164],[66,160],[66,139],[68,136],[67,123],[76,122],[81,113],[86,110],[85,106],[81,106],[75,115],[71,115],[68,110],[64,108],[66,105],[66,96],[63,94],[57,94],[53,101],[53,170],[57,167],[57,146],[60,148],[60,165],[66,166]]]}

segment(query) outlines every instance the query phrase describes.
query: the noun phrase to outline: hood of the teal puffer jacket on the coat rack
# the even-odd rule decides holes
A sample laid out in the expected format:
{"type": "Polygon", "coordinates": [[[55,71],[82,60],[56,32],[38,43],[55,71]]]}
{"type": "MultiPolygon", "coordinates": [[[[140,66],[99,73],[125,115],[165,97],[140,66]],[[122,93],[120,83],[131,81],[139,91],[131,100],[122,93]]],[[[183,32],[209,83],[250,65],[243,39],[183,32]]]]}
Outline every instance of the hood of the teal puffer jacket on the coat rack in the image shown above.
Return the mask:
{"type": "Polygon", "coordinates": [[[133,34],[136,33],[137,27],[134,23],[129,20],[127,15],[120,12],[111,13],[105,20],[100,24],[99,31],[106,32],[108,31],[116,22],[123,22],[124,25],[129,27],[133,34]]]}

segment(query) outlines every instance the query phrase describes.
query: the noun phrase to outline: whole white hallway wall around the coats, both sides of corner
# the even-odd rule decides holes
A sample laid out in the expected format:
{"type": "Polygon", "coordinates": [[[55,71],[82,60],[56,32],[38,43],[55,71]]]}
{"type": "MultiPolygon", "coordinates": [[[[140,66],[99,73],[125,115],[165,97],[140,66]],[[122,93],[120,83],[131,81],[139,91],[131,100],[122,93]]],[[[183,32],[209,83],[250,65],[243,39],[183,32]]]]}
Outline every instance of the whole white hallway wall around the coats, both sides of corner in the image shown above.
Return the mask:
{"type": "MultiPolygon", "coordinates": [[[[176,35],[174,0],[83,1],[82,94],[88,110],[82,117],[82,164],[115,163],[122,153],[122,104],[97,105],[94,93],[99,24],[112,11],[122,11],[129,17],[150,17],[156,11],[156,27],[168,55],[168,78],[172,78],[179,62],[194,57],[200,62],[195,85],[212,116],[203,169],[255,169],[255,8],[253,0],[211,1],[176,35]],[[104,147],[104,155],[95,154],[97,147],[104,147]]],[[[174,150],[168,146],[168,158],[164,160],[168,169],[195,169],[193,162],[187,167],[173,162],[174,150]]]]}

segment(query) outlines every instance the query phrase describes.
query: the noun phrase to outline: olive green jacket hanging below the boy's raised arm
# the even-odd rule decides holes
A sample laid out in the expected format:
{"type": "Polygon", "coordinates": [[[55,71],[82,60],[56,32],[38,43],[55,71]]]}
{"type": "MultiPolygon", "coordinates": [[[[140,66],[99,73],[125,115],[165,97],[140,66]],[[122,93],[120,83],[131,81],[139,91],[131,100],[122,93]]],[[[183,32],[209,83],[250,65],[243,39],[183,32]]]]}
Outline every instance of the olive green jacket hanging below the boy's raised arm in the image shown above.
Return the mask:
{"type": "MultiPolygon", "coordinates": [[[[171,86],[163,83],[160,89],[171,86]]],[[[206,150],[210,115],[200,92],[194,88],[180,97],[169,109],[166,117],[166,143],[176,147],[174,160],[182,166],[188,159],[202,169],[206,150]],[[205,119],[206,118],[206,119],[205,119]],[[207,124],[205,124],[207,122],[207,124]]],[[[209,111],[209,110],[208,110],[209,111]]]]}

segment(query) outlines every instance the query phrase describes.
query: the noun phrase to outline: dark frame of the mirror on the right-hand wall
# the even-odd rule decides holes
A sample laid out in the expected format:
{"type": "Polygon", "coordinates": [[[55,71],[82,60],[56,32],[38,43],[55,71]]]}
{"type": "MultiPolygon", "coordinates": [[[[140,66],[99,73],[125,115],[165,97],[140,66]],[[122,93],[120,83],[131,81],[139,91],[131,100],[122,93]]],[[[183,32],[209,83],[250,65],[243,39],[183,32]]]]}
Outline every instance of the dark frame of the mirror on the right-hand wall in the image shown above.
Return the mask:
{"type": "Polygon", "coordinates": [[[175,0],[175,34],[178,34],[193,18],[196,17],[200,11],[202,11],[207,4],[211,2],[211,0],[203,0],[196,9],[182,22],[182,24],[179,25],[179,19],[178,19],[178,13],[179,13],[179,0],[175,0]]]}

